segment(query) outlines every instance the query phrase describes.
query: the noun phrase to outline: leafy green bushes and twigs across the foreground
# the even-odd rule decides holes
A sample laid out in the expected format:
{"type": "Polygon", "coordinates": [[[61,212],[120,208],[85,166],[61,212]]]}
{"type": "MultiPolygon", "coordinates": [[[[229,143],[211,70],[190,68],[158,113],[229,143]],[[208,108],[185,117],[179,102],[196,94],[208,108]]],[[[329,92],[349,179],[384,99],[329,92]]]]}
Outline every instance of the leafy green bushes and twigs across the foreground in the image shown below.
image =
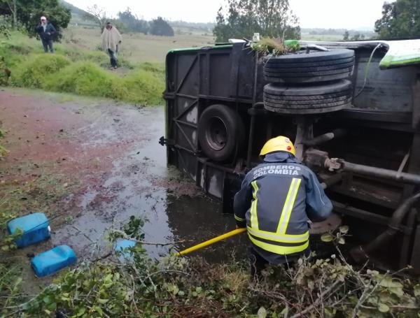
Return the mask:
{"type": "Polygon", "coordinates": [[[420,311],[418,278],[356,270],[339,250],[330,259],[267,268],[251,280],[246,263],[235,260],[209,265],[173,254],[150,259],[138,231],[143,224],[132,217],[124,231],[111,230],[111,240],[137,241],[116,255],[125,256],[123,263],[115,257],[82,263],[35,298],[8,309],[30,317],[86,318],[418,317],[420,311]]]}

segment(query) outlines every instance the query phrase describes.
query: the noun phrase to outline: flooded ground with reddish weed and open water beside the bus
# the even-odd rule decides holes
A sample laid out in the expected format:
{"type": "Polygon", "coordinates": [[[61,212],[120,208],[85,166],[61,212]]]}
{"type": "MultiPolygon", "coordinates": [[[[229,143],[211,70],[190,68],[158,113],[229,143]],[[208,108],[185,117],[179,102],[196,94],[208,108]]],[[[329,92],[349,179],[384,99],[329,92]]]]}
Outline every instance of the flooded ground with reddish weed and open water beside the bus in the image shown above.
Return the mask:
{"type": "MultiPolygon", "coordinates": [[[[165,108],[137,108],[113,101],[77,99],[59,94],[0,91],[2,140],[10,154],[0,161],[0,198],[22,215],[41,210],[51,220],[52,238],[13,252],[26,280],[38,288],[28,256],[55,245],[69,245],[79,261],[109,250],[109,229],[120,229],[131,215],[147,219],[145,240],[176,243],[179,250],[235,228],[217,201],[174,168],[167,167],[165,108]]],[[[202,252],[209,261],[230,259],[244,238],[202,252]]],[[[146,245],[153,257],[172,245],[146,245]]],[[[31,290],[31,288],[29,288],[31,290]]]]}

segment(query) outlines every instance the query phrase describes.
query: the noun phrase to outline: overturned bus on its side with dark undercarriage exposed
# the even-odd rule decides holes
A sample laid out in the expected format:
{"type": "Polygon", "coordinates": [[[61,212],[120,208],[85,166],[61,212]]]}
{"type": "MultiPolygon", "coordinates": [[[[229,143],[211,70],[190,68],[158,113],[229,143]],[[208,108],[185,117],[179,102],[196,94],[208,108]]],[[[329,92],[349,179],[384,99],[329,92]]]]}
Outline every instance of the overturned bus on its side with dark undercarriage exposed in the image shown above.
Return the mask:
{"type": "Polygon", "coordinates": [[[168,163],[232,200],[266,140],[288,136],[349,225],[353,259],[420,272],[420,41],[250,43],[167,55],[168,163]]]}

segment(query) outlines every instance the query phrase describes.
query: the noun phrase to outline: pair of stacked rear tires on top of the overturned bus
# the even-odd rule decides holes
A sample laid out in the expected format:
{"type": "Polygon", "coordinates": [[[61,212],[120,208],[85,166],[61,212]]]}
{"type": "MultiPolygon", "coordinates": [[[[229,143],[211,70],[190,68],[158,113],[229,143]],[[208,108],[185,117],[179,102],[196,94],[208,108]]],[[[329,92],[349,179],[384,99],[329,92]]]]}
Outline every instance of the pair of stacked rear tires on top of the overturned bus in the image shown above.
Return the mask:
{"type": "Polygon", "coordinates": [[[329,113],[351,107],[354,51],[265,57],[265,109],[283,114],[329,113]]]}

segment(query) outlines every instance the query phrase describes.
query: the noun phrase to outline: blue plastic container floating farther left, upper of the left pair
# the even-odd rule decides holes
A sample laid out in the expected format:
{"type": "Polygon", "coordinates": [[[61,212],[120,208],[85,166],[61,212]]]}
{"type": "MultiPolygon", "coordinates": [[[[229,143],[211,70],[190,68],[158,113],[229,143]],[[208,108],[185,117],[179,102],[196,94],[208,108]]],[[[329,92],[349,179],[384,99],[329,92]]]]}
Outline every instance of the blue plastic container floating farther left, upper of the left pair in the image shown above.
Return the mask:
{"type": "Polygon", "coordinates": [[[7,227],[10,234],[18,229],[22,230],[22,236],[15,240],[18,247],[25,247],[50,238],[49,222],[45,214],[33,213],[18,217],[8,222],[7,227]]]}

